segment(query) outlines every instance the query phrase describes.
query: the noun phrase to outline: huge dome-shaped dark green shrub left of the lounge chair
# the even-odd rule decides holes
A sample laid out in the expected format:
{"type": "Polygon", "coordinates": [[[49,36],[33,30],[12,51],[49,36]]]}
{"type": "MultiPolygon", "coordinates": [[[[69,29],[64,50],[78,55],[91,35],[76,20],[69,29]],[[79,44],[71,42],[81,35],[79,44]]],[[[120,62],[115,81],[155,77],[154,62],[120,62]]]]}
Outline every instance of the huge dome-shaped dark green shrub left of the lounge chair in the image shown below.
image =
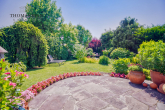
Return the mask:
{"type": "Polygon", "coordinates": [[[0,45],[8,51],[6,57],[10,63],[22,61],[27,68],[47,63],[47,40],[33,24],[18,21],[2,30],[0,45]]]}

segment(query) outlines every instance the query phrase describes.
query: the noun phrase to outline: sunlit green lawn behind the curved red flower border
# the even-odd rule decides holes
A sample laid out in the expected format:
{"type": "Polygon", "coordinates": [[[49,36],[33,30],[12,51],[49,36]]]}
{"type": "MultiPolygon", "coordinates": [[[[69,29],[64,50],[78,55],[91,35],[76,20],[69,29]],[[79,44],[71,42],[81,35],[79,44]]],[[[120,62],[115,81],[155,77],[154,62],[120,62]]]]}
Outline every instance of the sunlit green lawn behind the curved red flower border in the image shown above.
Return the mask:
{"type": "MultiPolygon", "coordinates": [[[[112,60],[111,60],[112,62],[112,60]]],[[[67,72],[106,72],[110,73],[113,71],[112,65],[101,65],[97,63],[78,63],[78,60],[66,61],[64,65],[59,66],[57,63],[46,65],[40,69],[31,69],[25,72],[29,75],[29,78],[24,82],[21,89],[26,90],[31,85],[37,82],[46,80],[51,76],[56,76],[59,74],[67,72]]]]}

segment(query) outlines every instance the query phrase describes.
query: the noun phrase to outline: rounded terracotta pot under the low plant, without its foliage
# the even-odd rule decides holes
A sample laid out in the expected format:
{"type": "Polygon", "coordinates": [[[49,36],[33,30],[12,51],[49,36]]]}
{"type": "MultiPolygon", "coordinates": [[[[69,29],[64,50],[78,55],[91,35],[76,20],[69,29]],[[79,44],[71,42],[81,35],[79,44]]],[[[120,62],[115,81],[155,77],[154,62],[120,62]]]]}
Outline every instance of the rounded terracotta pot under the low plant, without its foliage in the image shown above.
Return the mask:
{"type": "Polygon", "coordinates": [[[145,75],[140,71],[130,71],[128,77],[129,80],[135,84],[142,84],[145,80],[145,75]]]}

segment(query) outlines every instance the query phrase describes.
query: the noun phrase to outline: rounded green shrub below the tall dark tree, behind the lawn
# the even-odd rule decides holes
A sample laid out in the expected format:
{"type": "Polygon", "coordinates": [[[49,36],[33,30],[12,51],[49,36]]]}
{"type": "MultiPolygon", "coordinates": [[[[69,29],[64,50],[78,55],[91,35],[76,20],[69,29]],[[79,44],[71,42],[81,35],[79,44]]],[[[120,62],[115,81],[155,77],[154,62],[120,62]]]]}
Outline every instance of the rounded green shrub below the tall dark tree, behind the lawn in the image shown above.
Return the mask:
{"type": "Polygon", "coordinates": [[[126,50],[124,48],[117,48],[112,51],[110,54],[110,57],[115,59],[115,58],[128,58],[130,56],[130,51],[126,50]]]}

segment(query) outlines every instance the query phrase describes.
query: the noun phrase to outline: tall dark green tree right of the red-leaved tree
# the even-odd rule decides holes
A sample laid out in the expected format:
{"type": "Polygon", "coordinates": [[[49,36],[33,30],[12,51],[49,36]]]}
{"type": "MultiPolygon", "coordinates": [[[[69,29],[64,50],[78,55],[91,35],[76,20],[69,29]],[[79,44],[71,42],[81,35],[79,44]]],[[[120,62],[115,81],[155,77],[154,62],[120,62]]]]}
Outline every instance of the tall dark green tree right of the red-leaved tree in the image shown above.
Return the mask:
{"type": "Polygon", "coordinates": [[[139,29],[139,24],[135,18],[125,18],[120,22],[120,26],[114,31],[112,44],[114,47],[126,48],[130,51],[137,52],[139,46],[139,37],[134,34],[139,29]]]}

